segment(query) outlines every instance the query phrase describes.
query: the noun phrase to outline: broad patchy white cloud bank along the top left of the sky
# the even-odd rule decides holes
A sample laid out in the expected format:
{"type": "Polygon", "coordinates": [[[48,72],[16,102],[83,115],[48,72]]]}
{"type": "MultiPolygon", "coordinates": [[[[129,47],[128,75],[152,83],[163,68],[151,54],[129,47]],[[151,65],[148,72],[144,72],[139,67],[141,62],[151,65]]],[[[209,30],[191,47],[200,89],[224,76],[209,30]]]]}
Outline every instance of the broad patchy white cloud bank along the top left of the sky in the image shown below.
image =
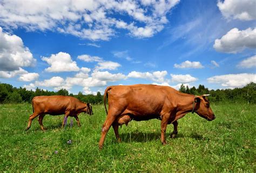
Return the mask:
{"type": "Polygon", "coordinates": [[[132,37],[145,38],[163,30],[168,22],[167,12],[178,3],[179,0],[142,3],[135,0],[3,0],[0,23],[26,30],[69,33],[91,40],[109,40],[117,29],[128,31],[132,37]]]}

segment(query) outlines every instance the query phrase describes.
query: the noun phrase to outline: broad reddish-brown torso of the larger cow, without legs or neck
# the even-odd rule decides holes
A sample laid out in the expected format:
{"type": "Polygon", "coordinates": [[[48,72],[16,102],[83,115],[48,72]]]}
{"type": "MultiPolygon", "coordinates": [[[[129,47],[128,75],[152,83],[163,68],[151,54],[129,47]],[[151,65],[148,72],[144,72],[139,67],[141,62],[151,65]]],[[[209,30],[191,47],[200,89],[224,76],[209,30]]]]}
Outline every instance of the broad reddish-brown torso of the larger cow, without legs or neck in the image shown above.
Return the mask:
{"type": "Polygon", "coordinates": [[[122,114],[147,117],[158,115],[166,104],[170,105],[170,92],[175,93],[175,89],[143,84],[112,86],[108,92],[109,107],[123,107],[122,114]]]}

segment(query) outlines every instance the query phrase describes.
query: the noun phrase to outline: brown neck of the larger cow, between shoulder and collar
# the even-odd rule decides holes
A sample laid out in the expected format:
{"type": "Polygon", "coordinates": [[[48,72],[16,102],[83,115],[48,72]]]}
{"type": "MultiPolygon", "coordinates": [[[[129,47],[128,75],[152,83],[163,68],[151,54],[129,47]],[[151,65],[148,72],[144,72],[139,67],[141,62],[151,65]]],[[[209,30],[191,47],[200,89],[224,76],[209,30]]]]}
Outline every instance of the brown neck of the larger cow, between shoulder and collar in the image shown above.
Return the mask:
{"type": "Polygon", "coordinates": [[[179,93],[177,102],[177,116],[184,116],[192,112],[194,104],[194,95],[179,93]]]}

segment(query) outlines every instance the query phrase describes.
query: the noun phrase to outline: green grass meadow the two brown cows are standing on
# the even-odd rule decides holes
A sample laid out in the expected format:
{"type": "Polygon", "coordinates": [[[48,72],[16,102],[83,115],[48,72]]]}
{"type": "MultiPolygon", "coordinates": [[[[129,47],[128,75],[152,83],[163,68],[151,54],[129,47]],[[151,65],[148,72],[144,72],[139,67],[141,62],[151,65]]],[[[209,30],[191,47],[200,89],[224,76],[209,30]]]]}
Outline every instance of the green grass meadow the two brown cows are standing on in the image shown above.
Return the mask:
{"type": "MultiPolygon", "coordinates": [[[[219,103],[212,109],[216,119],[211,122],[196,114],[180,119],[177,138],[167,138],[166,146],[159,140],[159,120],[132,121],[119,128],[122,143],[116,142],[111,128],[100,151],[103,105],[94,105],[92,116],[79,115],[80,128],[73,119],[72,128],[62,129],[62,115],[46,115],[45,132],[37,119],[25,132],[30,104],[0,105],[0,172],[256,172],[256,106],[219,103]]],[[[167,126],[168,134],[172,130],[172,124],[167,126]]]]}

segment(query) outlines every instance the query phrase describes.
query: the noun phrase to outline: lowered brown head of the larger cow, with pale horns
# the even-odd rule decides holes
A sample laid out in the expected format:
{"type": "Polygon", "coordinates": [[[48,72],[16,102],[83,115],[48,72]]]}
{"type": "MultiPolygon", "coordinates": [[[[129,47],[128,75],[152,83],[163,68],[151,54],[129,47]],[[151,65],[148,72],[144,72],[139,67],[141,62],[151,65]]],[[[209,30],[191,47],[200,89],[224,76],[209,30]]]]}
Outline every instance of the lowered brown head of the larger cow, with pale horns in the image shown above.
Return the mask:
{"type": "Polygon", "coordinates": [[[210,102],[206,99],[206,96],[210,94],[204,94],[200,96],[196,96],[194,98],[194,106],[193,111],[196,112],[199,116],[203,117],[208,121],[212,121],[215,119],[215,115],[210,108],[210,102]]]}

